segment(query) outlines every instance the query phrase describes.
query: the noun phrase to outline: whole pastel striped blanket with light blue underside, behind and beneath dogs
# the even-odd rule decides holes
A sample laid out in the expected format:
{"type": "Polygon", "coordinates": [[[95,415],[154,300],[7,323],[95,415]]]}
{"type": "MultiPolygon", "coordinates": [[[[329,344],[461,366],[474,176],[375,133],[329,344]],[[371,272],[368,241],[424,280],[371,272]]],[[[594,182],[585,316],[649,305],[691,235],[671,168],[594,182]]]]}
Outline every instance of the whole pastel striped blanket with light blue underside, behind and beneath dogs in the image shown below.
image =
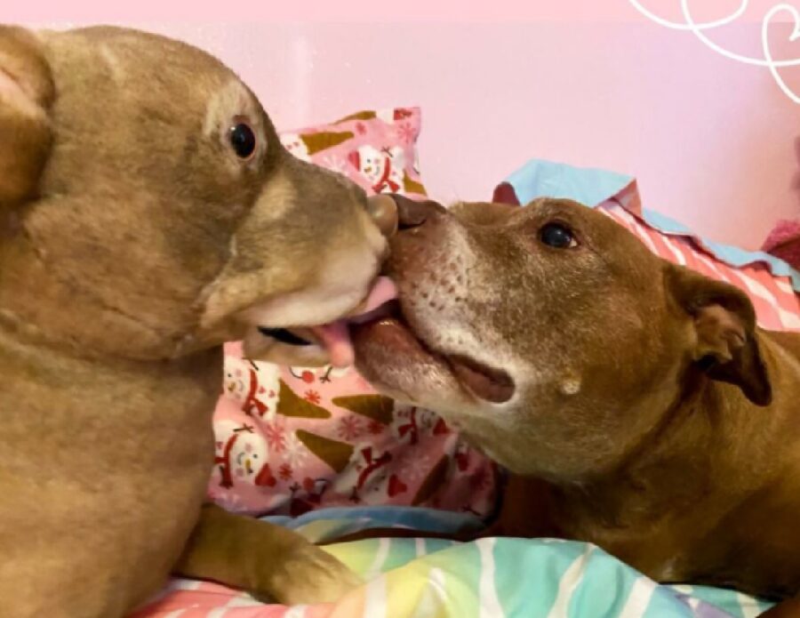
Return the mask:
{"type": "MultiPolygon", "coordinates": [[[[522,203],[547,195],[596,205],[653,253],[739,286],[764,328],[800,331],[800,273],[765,253],[693,237],[675,221],[642,209],[632,178],[532,161],[508,182],[522,203]]],[[[468,514],[407,507],[266,519],[312,541],[371,526],[446,532],[480,525],[468,514]]],[[[262,605],[216,584],[174,580],[135,618],[752,618],[769,607],[732,590],[661,586],[580,542],[376,539],[327,549],[364,576],[364,585],[338,603],[262,605]]]]}

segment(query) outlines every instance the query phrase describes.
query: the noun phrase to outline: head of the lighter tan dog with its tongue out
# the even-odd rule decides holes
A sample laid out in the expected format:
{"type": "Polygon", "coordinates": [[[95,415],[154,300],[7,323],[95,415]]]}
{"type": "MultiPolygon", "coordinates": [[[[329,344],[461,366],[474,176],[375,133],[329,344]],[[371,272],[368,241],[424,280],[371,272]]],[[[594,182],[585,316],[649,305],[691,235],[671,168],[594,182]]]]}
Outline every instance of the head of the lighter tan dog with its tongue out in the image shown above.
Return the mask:
{"type": "Polygon", "coordinates": [[[0,28],[7,323],[136,358],[325,324],[371,289],[376,219],[393,229],[355,184],[291,157],[206,53],[119,28],[0,28]]]}

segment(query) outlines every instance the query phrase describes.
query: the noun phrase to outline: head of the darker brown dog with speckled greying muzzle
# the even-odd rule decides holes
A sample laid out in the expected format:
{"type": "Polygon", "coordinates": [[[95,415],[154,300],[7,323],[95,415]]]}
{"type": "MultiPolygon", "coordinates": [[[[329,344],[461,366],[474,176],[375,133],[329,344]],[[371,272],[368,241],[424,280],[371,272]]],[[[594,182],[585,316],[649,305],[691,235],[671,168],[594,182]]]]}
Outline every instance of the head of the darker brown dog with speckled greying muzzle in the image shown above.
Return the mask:
{"type": "Polygon", "coordinates": [[[450,211],[395,199],[400,311],[358,328],[356,366],[510,470],[609,470],[687,381],[768,403],[745,294],[661,260],[603,214],[564,199],[450,211]]]}

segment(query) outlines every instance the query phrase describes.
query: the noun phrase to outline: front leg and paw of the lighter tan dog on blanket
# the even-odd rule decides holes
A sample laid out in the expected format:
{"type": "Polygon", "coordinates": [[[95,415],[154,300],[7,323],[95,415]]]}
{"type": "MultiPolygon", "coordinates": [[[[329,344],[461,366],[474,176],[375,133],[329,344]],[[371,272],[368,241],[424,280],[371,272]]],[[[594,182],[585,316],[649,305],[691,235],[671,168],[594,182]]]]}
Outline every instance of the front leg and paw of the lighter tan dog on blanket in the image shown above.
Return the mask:
{"type": "Polygon", "coordinates": [[[174,571],[286,605],[332,602],[361,584],[300,534],[214,504],[204,505],[174,571]]]}

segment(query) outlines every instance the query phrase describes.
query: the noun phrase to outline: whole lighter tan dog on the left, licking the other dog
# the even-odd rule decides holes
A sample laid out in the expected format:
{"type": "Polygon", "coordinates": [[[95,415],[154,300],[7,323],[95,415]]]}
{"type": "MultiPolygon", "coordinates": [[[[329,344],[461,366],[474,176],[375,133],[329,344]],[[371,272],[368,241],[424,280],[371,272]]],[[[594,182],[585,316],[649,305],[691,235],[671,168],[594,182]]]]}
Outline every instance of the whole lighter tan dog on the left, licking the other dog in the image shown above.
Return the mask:
{"type": "MultiPolygon", "coordinates": [[[[201,504],[221,343],[280,351],[256,326],[374,296],[393,209],[291,157],[204,52],[0,28],[0,614],[121,616],[172,570],[285,602],[356,584],[201,504]]],[[[341,344],[302,332],[303,362],[341,344]]]]}

